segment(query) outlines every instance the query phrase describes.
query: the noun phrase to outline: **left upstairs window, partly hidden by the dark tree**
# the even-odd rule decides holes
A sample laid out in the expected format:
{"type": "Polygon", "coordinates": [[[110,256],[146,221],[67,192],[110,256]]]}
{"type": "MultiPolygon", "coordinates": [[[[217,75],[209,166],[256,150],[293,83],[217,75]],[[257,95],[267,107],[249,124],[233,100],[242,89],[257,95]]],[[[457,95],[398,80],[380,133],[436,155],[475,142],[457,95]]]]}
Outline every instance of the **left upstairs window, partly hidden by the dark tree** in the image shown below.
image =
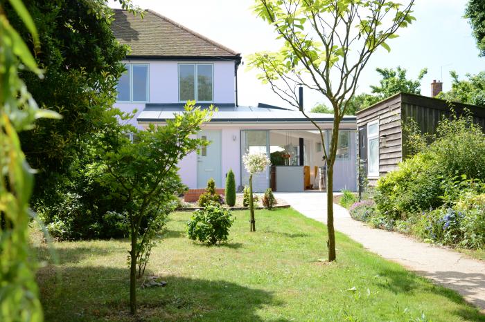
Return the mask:
{"type": "Polygon", "coordinates": [[[125,64],[125,68],[116,86],[118,102],[148,102],[148,64],[125,64]]]}

